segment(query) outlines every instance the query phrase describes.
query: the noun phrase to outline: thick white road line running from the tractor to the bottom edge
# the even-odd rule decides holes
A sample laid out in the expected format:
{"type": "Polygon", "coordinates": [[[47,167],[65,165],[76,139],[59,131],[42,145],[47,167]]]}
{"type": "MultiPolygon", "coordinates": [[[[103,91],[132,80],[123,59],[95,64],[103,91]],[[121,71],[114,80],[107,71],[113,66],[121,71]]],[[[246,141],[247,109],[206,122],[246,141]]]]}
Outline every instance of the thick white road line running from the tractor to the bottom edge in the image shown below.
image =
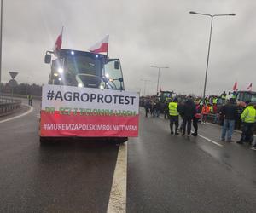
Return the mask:
{"type": "MultiPolygon", "coordinates": [[[[126,142],[127,143],[127,142],[126,142]]],[[[126,212],[127,144],[119,146],[108,201],[108,213],[126,212]]]]}

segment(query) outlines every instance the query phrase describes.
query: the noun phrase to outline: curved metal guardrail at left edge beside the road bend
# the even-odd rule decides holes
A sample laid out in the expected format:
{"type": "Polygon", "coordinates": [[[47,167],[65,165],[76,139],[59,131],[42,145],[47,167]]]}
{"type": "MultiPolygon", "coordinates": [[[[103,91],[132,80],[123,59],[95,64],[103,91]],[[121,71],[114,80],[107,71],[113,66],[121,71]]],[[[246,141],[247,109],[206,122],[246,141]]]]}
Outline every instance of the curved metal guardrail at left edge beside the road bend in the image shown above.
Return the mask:
{"type": "Polygon", "coordinates": [[[0,97],[0,116],[15,112],[21,106],[21,101],[12,98],[0,97]]]}

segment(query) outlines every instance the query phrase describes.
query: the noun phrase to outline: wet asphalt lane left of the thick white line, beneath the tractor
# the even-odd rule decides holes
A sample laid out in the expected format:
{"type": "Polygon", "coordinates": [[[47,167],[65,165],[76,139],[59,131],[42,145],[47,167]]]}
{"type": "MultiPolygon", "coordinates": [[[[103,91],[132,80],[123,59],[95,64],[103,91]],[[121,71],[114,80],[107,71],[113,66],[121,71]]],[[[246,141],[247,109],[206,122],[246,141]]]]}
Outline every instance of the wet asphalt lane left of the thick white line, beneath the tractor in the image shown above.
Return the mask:
{"type": "Polygon", "coordinates": [[[40,147],[39,101],[33,107],[0,124],[0,212],[106,212],[119,147],[84,141],[40,147]]]}

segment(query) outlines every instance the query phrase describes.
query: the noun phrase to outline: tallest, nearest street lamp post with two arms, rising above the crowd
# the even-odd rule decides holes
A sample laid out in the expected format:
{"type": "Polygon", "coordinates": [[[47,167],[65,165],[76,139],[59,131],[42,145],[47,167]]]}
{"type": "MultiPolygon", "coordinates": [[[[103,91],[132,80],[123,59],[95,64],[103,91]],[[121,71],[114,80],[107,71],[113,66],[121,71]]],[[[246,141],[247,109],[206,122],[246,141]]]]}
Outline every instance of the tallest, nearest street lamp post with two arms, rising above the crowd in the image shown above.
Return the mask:
{"type": "Polygon", "coordinates": [[[210,49],[211,49],[211,40],[212,40],[212,22],[213,18],[217,16],[234,16],[236,14],[201,14],[201,13],[196,13],[194,11],[190,11],[189,14],[200,14],[200,15],[206,15],[211,17],[211,29],[210,29],[210,38],[209,38],[209,43],[208,43],[208,54],[207,54],[207,69],[206,69],[206,77],[205,77],[205,84],[204,84],[204,92],[203,92],[203,103],[205,102],[205,96],[206,96],[206,89],[207,89],[207,73],[208,73],[208,64],[209,64],[209,55],[210,55],[210,49]]]}

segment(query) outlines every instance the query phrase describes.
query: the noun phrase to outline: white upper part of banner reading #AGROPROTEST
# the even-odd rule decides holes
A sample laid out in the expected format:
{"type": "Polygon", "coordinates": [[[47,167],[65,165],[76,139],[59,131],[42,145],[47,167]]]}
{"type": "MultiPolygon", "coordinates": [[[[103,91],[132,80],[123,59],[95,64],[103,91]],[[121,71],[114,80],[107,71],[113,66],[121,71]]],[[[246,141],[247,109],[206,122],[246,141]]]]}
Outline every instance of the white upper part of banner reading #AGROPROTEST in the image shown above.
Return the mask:
{"type": "Polygon", "coordinates": [[[138,114],[139,95],[114,89],[92,89],[61,85],[44,85],[42,110],[46,107],[72,107],[106,110],[125,110],[138,114]]]}

